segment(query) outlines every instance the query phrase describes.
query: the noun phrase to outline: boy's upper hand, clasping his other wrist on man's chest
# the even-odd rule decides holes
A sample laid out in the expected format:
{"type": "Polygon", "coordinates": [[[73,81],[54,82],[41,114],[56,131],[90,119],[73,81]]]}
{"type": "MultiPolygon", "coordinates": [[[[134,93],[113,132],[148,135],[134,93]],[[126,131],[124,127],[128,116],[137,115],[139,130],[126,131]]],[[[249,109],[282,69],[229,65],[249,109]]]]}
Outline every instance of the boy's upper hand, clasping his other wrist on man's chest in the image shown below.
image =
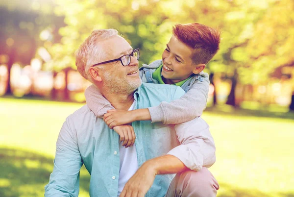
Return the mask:
{"type": "Polygon", "coordinates": [[[114,126],[132,123],[134,118],[132,111],[111,109],[104,114],[103,120],[112,129],[114,126]]]}

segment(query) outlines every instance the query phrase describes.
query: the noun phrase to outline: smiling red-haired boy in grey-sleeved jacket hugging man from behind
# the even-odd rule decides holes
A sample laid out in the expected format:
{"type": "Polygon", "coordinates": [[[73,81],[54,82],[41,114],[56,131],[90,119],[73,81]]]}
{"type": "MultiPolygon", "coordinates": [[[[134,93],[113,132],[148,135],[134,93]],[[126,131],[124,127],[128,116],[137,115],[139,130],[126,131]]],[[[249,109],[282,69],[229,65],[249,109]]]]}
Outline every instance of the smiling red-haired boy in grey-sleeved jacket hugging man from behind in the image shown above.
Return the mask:
{"type": "MultiPolygon", "coordinates": [[[[134,121],[150,120],[164,124],[177,124],[190,121],[202,114],[206,107],[209,78],[203,73],[205,65],[219,50],[220,31],[206,25],[193,23],[174,25],[172,37],[162,54],[162,60],[156,60],[149,65],[143,64],[139,74],[143,82],[172,84],[180,86],[186,94],[172,102],[162,102],[158,106],[132,111],[114,110],[109,102],[91,85],[85,91],[89,108],[98,117],[103,117],[110,128],[118,130],[117,126],[134,121]],[[106,113],[108,112],[108,113],[106,113]]],[[[131,135],[126,131],[117,131],[123,145],[133,145],[131,135]]],[[[132,131],[129,131],[132,132],[132,131]]]]}

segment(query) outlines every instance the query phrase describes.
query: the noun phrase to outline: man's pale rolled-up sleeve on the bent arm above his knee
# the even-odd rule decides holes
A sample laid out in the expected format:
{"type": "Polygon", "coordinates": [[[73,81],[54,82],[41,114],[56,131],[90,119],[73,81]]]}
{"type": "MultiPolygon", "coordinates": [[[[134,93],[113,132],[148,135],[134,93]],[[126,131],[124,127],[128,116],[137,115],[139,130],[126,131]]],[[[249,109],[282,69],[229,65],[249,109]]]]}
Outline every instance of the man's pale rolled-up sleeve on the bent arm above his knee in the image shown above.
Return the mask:
{"type": "Polygon", "coordinates": [[[200,117],[174,126],[180,145],[168,154],[177,157],[194,171],[209,168],[216,161],[216,148],[209,125],[200,117]]]}

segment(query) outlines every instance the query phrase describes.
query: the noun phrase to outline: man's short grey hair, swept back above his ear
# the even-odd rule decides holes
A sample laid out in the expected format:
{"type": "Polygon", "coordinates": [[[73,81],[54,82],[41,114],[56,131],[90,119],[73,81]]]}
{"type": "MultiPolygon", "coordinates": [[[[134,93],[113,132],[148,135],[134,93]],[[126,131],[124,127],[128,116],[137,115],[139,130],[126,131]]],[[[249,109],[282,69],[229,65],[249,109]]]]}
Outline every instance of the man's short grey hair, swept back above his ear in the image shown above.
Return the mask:
{"type": "Polygon", "coordinates": [[[87,80],[92,82],[89,68],[99,63],[106,53],[99,45],[99,41],[103,41],[112,36],[118,35],[116,29],[98,29],[92,31],[91,35],[80,45],[75,52],[75,65],[78,72],[87,80]]]}

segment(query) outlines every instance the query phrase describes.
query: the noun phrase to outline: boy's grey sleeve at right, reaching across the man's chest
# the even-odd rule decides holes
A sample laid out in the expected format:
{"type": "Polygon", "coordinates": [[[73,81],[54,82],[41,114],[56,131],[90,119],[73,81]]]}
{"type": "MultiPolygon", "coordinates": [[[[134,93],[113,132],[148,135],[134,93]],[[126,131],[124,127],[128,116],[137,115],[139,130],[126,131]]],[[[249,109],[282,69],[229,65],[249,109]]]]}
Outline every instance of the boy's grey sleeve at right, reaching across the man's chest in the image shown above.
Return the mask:
{"type": "Polygon", "coordinates": [[[152,123],[178,124],[200,116],[206,108],[209,83],[206,74],[203,81],[195,80],[190,90],[181,98],[171,102],[163,101],[158,106],[149,107],[152,123]]]}

